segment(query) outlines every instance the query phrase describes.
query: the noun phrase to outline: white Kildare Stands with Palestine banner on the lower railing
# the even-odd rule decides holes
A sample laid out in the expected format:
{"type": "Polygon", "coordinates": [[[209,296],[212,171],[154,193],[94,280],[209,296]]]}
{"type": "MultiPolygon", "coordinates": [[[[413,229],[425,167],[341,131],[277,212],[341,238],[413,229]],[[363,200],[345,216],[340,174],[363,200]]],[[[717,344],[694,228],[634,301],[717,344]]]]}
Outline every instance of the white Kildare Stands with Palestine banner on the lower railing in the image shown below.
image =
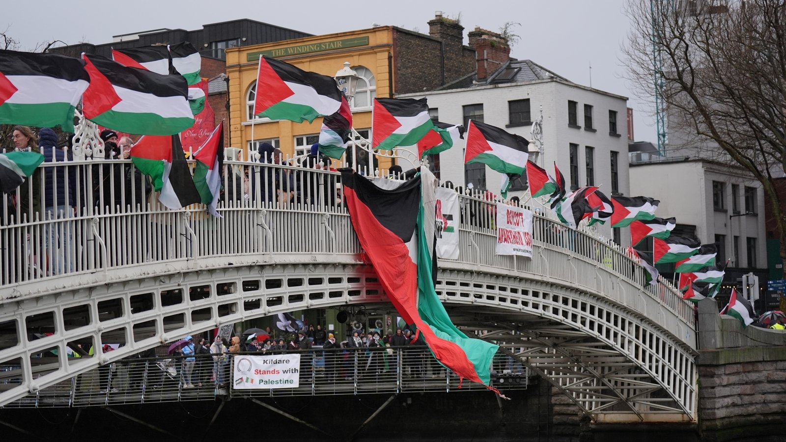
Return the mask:
{"type": "Polygon", "coordinates": [[[236,355],[234,389],[296,389],[300,385],[300,355],[236,355]]]}

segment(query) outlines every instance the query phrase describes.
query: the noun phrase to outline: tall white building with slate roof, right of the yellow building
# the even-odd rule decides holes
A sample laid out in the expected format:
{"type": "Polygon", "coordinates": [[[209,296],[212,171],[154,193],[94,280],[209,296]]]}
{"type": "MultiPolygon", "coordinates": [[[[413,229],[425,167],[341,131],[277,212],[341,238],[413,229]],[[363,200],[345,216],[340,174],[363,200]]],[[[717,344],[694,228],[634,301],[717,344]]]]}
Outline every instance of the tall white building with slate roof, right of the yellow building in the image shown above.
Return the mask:
{"type": "MultiPolygon", "coordinates": [[[[494,39],[493,33],[488,34],[494,39]]],[[[570,189],[595,185],[601,186],[609,197],[630,196],[627,98],[572,83],[532,61],[509,61],[506,53],[503,55],[501,68],[487,78],[479,76],[487,72],[489,63],[497,63],[491,55],[486,59],[478,57],[478,71],[471,76],[440,90],[397,98],[428,98],[432,118],[444,123],[463,123],[467,127],[468,120],[479,120],[527,139],[531,138],[531,122],[540,116],[542,108],[543,153],[538,155],[531,143],[530,160],[550,175],[556,161],[570,189]]],[[[439,178],[450,180],[454,186],[471,184],[475,189],[499,193],[501,174],[484,164],[465,166],[464,151],[465,141],[460,140],[452,149],[431,159],[439,178]]],[[[522,183],[514,182],[512,195],[529,194],[521,189],[522,183]]],[[[612,233],[608,226],[601,228],[601,233],[609,237],[613,234],[619,242],[619,229],[612,233]]]]}

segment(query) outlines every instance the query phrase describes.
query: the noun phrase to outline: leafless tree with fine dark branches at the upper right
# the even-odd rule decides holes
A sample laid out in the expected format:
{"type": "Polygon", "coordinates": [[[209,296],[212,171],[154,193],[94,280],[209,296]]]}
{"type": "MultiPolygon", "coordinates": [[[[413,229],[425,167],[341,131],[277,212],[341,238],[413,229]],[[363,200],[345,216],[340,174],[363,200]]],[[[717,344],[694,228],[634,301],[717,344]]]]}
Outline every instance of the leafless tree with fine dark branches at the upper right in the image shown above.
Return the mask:
{"type": "Polygon", "coordinates": [[[626,13],[626,64],[639,94],[652,96],[662,81],[669,133],[694,134],[702,157],[762,183],[786,262],[775,182],[786,173],[786,3],[629,0],[626,13]]]}

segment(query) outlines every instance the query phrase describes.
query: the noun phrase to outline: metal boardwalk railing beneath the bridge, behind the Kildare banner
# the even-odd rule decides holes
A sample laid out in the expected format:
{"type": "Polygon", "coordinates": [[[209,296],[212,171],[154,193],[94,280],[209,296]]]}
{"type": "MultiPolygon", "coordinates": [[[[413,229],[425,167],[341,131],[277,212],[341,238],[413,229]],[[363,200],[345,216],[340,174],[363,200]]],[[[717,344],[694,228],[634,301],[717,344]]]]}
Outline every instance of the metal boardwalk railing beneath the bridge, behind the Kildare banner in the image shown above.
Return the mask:
{"type": "MultiPolygon", "coordinates": [[[[41,389],[4,407],[85,407],[119,403],[215,400],[226,397],[360,395],[389,392],[462,392],[483,389],[459,379],[425,348],[382,348],[266,352],[300,355],[299,386],[289,389],[235,389],[231,355],[121,359],[41,389]]],[[[241,355],[263,355],[244,352],[241,355]]],[[[0,390],[21,381],[19,369],[0,365],[0,390]]],[[[506,355],[491,366],[491,384],[502,390],[527,389],[530,372],[506,355]]]]}

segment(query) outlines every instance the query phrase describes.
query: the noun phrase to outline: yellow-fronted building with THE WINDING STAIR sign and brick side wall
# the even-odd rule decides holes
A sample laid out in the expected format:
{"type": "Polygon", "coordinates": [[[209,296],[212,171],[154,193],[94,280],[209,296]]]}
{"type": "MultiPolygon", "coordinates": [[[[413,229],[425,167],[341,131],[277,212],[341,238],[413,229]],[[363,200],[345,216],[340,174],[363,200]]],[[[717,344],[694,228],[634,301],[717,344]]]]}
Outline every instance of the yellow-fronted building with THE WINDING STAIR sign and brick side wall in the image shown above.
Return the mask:
{"type": "MultiPolygon", "coordinates": [[[[428,25],[429,35],[380,26],[226,50],[233,145],[248,159],[262,142],[289,156],[307,153],[318,142],[321,118],[309,124],[253,116],[260,55],[331,77],[348,61],[360,76],[350,103],[353,127],[369,139],[373,98],[432,90],[475,71],[475,50],[464,46],[461,24],[437,15],[428,25]]],[[[388,164],[380,160],[379,166],[388,164]]]]}

